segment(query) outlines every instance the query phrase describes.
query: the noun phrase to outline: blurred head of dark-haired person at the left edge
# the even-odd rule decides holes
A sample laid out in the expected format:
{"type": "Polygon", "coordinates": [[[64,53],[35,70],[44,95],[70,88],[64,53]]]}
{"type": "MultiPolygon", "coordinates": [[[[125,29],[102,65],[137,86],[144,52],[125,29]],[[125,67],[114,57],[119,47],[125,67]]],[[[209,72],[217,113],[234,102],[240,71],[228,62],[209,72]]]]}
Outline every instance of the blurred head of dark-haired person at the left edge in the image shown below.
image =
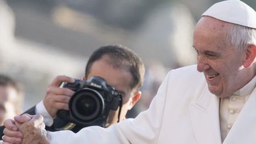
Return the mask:
{"type": "MultiPolygon", "coordinates": [[[[21,114],[23,90],[19,82],[7,75],[0,74],[0,124],[21,114]]],[[[3,129],[2,129],[3,130],[3,129]]]]}

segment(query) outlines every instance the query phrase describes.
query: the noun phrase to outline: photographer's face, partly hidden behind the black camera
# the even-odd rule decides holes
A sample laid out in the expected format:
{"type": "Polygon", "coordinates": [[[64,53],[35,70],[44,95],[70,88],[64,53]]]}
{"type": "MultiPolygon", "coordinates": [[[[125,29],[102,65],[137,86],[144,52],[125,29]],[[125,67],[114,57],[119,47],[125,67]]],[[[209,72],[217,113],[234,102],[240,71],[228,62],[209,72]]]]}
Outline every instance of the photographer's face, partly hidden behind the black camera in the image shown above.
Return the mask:
{"type": "MultiPolygon", "coordinates": [[[[123,97],[123,107],[121,108],[120,120],[125,119],[126,113],[139,100],[141,93],[133,92],[130,84],[132,82],[132,74],[126,69],[114,68],[108,61],[108,56],[103,56],[100,60],[94,62],[88,73],[87,80],[92,76],[100,76],[107,81],[108,85],[113,86],[121,92],[123,97]]],[[[119,110],[111,111],[106,126],[117,123],[119,110]]]]}

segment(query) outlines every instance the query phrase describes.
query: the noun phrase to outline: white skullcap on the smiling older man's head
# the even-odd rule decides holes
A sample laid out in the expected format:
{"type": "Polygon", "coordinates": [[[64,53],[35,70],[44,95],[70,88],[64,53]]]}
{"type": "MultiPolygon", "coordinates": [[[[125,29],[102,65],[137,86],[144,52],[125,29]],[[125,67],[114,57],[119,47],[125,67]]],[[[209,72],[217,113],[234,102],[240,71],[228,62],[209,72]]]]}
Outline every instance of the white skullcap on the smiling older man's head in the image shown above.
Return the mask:
{"type": "Polygon", "coordinates": [[[229,23],[256,28],[256,12],[239,0],[217,2],[201,16],[210,16],[229,23]]]}

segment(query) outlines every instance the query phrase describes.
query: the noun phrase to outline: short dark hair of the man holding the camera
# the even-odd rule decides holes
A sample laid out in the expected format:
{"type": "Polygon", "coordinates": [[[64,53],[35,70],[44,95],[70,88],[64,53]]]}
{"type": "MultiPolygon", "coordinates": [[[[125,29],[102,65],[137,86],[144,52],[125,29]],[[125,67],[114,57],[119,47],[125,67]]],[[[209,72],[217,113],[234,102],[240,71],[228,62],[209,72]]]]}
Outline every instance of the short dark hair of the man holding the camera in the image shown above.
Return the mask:
{"type": "Polygon", "coordinates": [[[139,91],[145,75],[145,66],[135,52],[120,44],[107,45],[95,50],[89,57],[87,66],[85,67],[85,77],[88,77],[92,64],[105,55],[109,56],[109,63],[114,68],[129,69],[129,72],[133,76],[130,87],[139,91]]]}

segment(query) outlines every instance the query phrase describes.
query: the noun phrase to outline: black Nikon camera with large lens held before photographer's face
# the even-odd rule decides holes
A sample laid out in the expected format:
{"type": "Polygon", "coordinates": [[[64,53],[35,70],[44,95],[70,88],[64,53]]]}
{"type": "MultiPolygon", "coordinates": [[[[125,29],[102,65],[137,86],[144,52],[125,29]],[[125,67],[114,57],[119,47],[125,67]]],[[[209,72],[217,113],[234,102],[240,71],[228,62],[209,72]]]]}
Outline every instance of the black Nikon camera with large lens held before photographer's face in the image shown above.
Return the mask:
{"type": "Polygon", "coordinates": [[[110,110],[121,105],[121,94],[100,76],[92,76],[88,81],[75,79],[66,83],[65,88],[75,93],[69,100],[69,111],[57,111],[57,117],[71,123],[87,126],[104,126],[110,110]]]}

